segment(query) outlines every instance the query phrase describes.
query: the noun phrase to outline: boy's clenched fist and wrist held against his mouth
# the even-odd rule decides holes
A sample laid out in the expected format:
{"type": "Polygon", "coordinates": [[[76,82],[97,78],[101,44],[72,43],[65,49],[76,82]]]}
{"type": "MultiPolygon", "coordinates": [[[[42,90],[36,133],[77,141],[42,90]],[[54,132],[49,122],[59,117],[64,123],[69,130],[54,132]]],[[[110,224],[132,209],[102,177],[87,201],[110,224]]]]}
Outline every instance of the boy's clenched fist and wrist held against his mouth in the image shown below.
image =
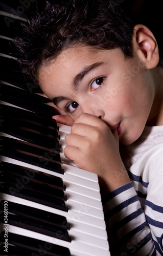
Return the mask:
{"type": "Polygon", "coordinates": [[[118,131],[111,131],[98,117],[81,114],[65,142],[65,156],[79,168],[96,173],[103,194],[130,181],[119,153],[118,131]]]}

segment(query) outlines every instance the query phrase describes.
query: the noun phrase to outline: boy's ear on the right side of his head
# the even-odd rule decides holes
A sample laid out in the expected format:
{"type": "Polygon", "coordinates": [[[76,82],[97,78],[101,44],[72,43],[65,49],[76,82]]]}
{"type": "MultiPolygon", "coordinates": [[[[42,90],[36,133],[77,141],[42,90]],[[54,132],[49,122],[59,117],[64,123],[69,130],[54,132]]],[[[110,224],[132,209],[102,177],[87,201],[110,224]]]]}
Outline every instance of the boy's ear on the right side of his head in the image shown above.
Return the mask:
{"type": "Polygon", "coordinates": [[[159,62],[157,41],[152,32],[144,25],[134,27],[132,37],[133,51],[145,63],[147,69],[155,68],[159,62]]]}

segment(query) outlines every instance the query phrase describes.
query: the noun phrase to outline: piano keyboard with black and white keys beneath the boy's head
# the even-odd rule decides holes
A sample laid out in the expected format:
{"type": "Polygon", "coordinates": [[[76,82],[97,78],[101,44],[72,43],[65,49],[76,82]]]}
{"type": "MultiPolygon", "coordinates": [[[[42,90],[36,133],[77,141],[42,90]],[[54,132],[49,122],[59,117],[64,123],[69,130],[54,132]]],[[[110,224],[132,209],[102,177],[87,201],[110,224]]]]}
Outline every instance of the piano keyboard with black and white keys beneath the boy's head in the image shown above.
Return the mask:
{"type": "Polygon", "coordinates": [[[10,42],[25,18],[0,18],[0,254],[109,256],[98,177],[65,158],[70,127],[19,70],[10,42]]]}

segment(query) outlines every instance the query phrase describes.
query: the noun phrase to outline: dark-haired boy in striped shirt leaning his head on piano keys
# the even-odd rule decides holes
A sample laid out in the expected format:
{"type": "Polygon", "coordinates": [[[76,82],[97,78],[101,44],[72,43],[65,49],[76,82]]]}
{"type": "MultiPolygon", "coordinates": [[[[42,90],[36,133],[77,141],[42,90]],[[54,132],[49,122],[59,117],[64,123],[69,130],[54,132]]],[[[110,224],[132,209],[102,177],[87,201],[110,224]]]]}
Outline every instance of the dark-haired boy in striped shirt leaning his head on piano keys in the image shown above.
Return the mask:
{"type": "Polygon", "coordinates": [[[22,70],[54,102],[54,119],[72,125],[65,156],[98,174],[111,255],[163,255],[163,72],[152,32],[101,0],[48,3],[24,30],[22,70]]]}

